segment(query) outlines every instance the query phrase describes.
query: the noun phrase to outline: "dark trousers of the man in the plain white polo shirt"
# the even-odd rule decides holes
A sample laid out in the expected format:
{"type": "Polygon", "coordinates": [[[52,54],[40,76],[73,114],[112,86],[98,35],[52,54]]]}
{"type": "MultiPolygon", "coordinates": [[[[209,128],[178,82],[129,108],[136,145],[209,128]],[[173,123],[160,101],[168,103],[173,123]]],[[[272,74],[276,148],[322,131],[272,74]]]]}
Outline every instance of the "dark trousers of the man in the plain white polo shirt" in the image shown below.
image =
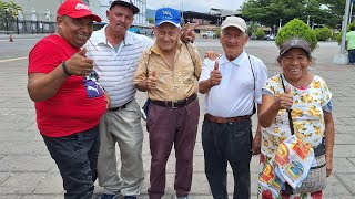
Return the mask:
{"type": "Polygon", "coordinates": [[[252,142],[251,119],[224,124],[206,119],[203,122],[202,146],[205,174],[213,198],[229,198],[226,191],[226,167],[227,163],[230,163],[234,176],[233,198],[250,199],[252,142]]]}

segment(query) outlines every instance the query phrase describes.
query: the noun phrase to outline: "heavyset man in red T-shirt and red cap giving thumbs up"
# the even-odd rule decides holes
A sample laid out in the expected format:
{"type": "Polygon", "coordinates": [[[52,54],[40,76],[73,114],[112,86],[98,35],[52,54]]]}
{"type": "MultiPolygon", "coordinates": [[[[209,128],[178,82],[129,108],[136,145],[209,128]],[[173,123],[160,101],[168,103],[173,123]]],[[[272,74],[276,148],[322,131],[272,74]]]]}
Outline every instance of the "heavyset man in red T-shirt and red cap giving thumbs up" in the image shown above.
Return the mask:
{"type": "Polygon", "coordinates": [[[28,92],[38,128],[60,170],[65,199],[92,198],[100,148],[99,123],[109,98],[80,49],[101,19],[79,0],[58,9],[58,31],[39,41],[29,54],[28,92]]]}

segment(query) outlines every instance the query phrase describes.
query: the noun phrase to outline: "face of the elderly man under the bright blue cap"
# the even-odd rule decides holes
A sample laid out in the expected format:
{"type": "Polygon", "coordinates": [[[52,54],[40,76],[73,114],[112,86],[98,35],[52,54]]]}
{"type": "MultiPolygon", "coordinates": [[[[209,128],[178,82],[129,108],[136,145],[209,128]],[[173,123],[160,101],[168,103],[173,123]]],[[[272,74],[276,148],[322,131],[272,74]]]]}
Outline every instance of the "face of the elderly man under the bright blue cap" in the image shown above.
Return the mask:
{"type": "Polygon", "coordinates": [[[154,27],[153,31],[156,36],[156,43],[163,53],[170,53],[175,50],[181,35],[180,28],[166,22],[154,27]]]}

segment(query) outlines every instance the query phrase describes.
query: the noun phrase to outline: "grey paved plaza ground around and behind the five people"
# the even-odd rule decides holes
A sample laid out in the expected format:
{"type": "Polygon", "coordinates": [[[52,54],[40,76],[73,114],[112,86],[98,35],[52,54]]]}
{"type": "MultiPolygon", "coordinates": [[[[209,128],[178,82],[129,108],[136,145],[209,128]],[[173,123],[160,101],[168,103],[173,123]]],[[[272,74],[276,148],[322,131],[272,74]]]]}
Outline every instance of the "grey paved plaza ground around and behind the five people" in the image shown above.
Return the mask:
{"type": "MultiPolygon", "coordinates": [[[[11,50],[10,55],[0,53],[0,199],[49,199],[63,198],[62,180],[54,161],[37,129],[33,103],[27,94],[27,60],[7,61],[17,54],[28,54],[36,41],[16,40],[13,43],[1,41],[0,52],[11,50]],[[17,50],[20,45],[22,49],[17,50]]],[[[206,50],[222,52],[217,40],[197,40],[201,55],[206,50]]],[[[261,57],[267,65],[270,75],[281,72],[276,63],[277,48],[271,41],[251,41],[246,51],[261,57]]],[[[310,69],[327,82],[333,92],[336,140],[334,148],[334,170],[327,179],[326,199],[355,198],[355,66],[334,65],[332,60],[338,52],[336,43],[320,43],[315,51],[315,64],[310,69]]],[[[139,103],[145,100],[138,93],[139,103]]],[[[200,95],[203,115],[203,96],[200,95]]],[[[200,121],[202,122],[202,116],[200,121]]],[[[255,118],[254,118],[255,122],[255,118]]],[[[145,123],[143,122],[143,125],[145,123]]],[[[191,196],[193,199],[209,199],[211,191],[204,175],[201,125],[194,153],[194,176],[191,196]]],[[[145,133],[143,145],[145,180],[140,198],[148,198],[150,151],[145,133]]],[[[252,198],[256,198],[256,176],[258,156],[252,160],[252,198]]],[[[174,151],[168,163],[165,199],[174,198],[174,151]]],[[[229,192],[233,193],[233,178],[229,169],[229,192]]],[[[97,186],[95,198],[102,188],[97,186]]],[[[232,197],[231,197],[232,198],[232,197]]]]}

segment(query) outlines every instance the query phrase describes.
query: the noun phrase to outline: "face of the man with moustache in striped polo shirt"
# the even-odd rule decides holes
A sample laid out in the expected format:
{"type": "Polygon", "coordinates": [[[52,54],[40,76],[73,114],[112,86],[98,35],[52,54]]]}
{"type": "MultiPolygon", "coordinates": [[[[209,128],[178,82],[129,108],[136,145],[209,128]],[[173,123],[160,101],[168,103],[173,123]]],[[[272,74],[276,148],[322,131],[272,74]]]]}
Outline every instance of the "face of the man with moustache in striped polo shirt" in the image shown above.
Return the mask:
{"type": "Polygon", "coordinates": [[[119,35],[124,35],[133,23],[133,10],[128,7],[115,6],[106,11],[109,29],[119,35]]]}

